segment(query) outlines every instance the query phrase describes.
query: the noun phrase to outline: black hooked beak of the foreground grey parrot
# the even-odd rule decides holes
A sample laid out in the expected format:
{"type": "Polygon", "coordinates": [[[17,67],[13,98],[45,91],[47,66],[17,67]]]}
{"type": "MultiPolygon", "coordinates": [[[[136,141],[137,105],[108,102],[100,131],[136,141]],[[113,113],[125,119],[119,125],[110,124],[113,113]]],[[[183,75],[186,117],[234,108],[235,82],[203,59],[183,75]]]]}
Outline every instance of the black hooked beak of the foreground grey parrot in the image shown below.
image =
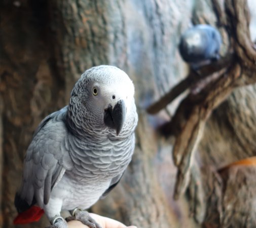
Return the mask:
{"type": "Polygon", "coordinates": [[[109,104],[104,111],[104,124],[109,128],[116,129],[117,135],[119,135],[125,121],[125,115],[126,106],[124,100],[119,100],[114,108],[109,104]]]}

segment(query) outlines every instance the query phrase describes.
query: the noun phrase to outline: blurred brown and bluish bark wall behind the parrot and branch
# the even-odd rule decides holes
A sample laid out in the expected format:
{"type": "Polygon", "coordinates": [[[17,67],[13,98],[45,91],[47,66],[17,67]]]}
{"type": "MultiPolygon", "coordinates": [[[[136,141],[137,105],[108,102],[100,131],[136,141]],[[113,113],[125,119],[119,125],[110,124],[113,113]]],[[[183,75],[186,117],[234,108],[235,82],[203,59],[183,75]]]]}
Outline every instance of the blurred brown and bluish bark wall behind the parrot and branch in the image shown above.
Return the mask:
{"type": "MultiPolygon", "coordinates": [[[[207,119],[195,148],[188,187],[178,200],[173,199],[175,137],[164,136],[158,127],[171,120],[186,94],[157,115],[146,111],[189,74],[190,68],[177,48],[187,28],[211,24],[222,34],[221,55],[234,51],[233,33],[216,13],[220,7],[223,15],[227,14],[224,2],[1,0],[1,227],[49,224],[45,217],[28,225],[12,223],[17,214],[13,202],[25,151],[41,120],[68,104],[80,75],[100,64],[118,66],[133,80],[139,123],[130,166],[120,184],[92,211],[144,228],[256,227],[253,162],[218,172],[256,155],[254,83],[237,86],[207,119]]],[[[245,15],[251,14],[250,39],[255,42],[256,2],[236,0],[233,5],[245,7],[245,15]]],[[[254,50],[254,60],[255,56],[254,50]]]]}

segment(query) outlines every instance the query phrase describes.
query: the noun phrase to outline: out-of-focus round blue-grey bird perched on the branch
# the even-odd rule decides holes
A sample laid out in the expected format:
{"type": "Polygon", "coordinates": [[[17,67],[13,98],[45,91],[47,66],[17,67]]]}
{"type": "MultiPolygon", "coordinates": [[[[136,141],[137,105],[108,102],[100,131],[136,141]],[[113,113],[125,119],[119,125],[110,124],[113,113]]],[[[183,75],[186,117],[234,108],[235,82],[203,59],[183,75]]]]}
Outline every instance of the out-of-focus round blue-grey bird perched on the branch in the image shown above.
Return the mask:
{"type": "Polygon", "coordinates": [[[199,68],[220,58],[222,45],[220,32],[207,24],[198,24],[180,37],[179,53],[193,68],[199,68]]]}

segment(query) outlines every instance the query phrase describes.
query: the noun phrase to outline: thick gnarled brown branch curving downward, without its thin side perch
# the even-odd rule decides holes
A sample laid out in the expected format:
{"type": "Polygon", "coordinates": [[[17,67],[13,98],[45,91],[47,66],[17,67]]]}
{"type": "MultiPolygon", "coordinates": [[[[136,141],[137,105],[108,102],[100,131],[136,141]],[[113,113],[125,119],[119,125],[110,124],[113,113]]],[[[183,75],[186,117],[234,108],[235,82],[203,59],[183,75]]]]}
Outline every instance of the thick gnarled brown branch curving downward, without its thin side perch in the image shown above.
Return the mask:
{"type": "MultiPolygon", "coordinates": [[[[193,152],[201,139],[204,124],[211,111],[216,108],[238,85],[256,83],[255,73],[243,74],[246,71],[256,72],[256,51],[250,41],[249,19],[246,1],[226,1],[226,12],[228,15],[228,27],[231,37],[236,61],[220,76],[216,82],[210,83],[197,96],[189,95],[186,99],[193,101],[192,109],[185,124],[180,127],[181,131],[176,137],[173,149],[173,158],[178,167],[177,181],[174,197],[178,198],[180,193],[185,192],[190,178],[190,167],[193,161],[193,152]]],[[[185,104],[186,102],[182,102],[185,104]]],[[[182,109],[178,109],[182,110],[182,109]]],[[[175,116],[182,113],[175,113],[175,116]]],[[[184,116],[184,113],[183,113],[184,116]]]]}

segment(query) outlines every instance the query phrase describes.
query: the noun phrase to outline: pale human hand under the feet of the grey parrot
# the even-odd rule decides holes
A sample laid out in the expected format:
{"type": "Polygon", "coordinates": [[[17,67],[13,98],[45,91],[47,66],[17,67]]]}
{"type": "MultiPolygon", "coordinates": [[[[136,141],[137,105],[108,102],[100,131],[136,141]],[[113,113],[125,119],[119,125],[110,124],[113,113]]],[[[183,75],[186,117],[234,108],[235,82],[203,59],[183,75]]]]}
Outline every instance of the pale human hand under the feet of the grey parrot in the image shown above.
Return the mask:
{"type": "MultiPolygon", "coordinates": [[[[102,226],[102,228],[137,228],[134,225],[126,226],[117,220],[103,217],[97,214],[90,213],[90,215],[102,226]]],[[[77,220],[69,221],[67,224],[68,228],[89,228],[87,225],[84,225],[81,221],[77,220]]]]}

